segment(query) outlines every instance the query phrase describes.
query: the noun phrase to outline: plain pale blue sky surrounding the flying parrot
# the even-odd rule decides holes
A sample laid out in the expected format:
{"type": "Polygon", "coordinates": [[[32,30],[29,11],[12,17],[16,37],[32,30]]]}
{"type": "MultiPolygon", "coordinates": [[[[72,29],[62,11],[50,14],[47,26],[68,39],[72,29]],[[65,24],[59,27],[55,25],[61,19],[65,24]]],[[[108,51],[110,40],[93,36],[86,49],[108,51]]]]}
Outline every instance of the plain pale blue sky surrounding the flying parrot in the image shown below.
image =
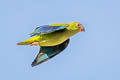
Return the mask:
{"type": "Polygon", "coordinates": [[[0,80],[120,80],[119,0],[1,0],[0,80]],[[86,32],[36,67],[39,47],[17,46],[39,25],[78,21],[86,32]]]}

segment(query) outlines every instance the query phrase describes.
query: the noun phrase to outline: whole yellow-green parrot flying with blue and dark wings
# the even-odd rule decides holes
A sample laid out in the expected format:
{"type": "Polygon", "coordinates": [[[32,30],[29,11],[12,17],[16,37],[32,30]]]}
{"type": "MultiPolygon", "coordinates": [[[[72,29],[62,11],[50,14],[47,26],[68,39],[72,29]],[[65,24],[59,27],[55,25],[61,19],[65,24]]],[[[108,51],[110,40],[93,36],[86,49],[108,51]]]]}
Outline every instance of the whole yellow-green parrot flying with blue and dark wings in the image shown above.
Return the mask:
{"type": "Polygon", "coordinates": [[[85,28],[80,22],[42,25],[29,34],[31,38],[17,45],[40,46],[39,53],[31,64],[34,67],[62,52],[73,35],[84,31],[85,28]]]}

